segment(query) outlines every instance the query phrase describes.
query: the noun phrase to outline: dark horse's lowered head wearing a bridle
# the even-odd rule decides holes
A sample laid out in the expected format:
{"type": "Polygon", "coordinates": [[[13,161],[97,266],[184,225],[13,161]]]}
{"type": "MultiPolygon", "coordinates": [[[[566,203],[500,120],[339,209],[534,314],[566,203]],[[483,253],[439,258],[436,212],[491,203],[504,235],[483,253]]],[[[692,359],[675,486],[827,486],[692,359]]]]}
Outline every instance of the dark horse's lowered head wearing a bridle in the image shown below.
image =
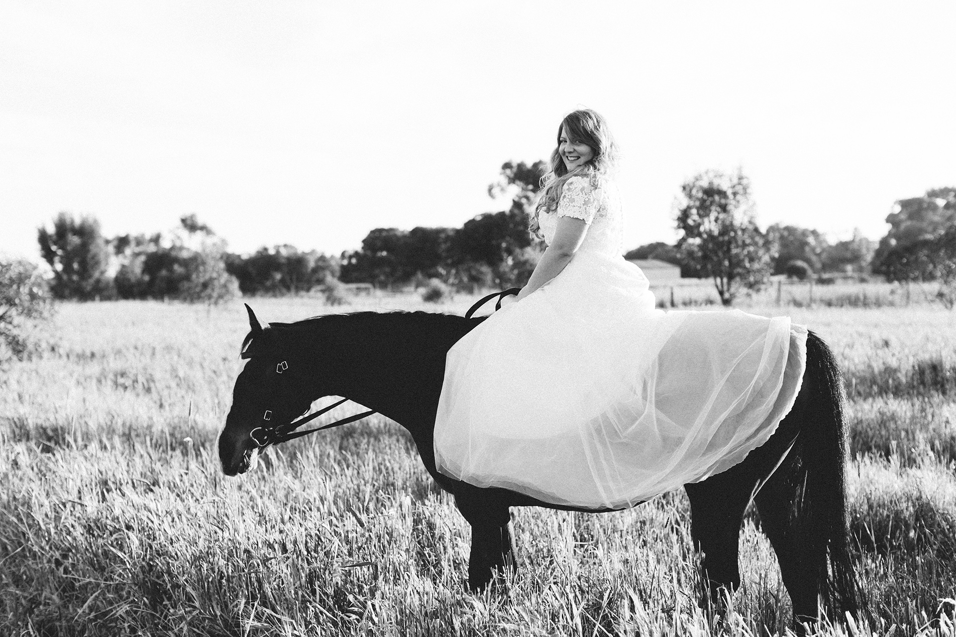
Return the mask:
{"type": "Polygon", "coordinates": [[[246,473],[255,466],[262,446],[256,438],[261,439],[263,430],[292,422],[312,404],[305,391],[306,379],[295,369],[296,361],[302,360],[300,355],[285,351],[276,329],[263,329],[252,308],[246,309],[250,332],[241,356],[249,362],[236,378],[232,407],[219,435],[219,459],[227,476],[246,473]]]}

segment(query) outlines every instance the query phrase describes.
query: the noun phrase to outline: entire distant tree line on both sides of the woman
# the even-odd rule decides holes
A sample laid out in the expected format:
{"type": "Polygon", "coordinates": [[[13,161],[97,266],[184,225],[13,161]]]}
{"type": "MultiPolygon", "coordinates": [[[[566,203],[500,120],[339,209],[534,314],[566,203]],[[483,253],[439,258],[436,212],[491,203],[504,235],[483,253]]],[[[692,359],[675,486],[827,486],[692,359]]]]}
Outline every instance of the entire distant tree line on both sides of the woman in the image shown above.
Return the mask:
{"type": "MultiPolygon", "coordinates": [[[[196,215],[163,236],[102,236],[92,216],[60,213],[38,229],[41,255],[53,270],[57,298],[160,299],[215,303],[237,293],[294,294],[342,283],[418,286],[429,280],[475,291],[523,285],[544,245],[528,232],[529,215],[546,170],[543,161],[506,162],[489,196],[511,198],[508,209],[478,215],[461,227],[375,228],[359,249],[338,257],[293,245],[248,255],[226,243],[196,215]]],[[[644,244],[628,259],[658,259],[682,276],[713,281],[726,305],[773,274],[800,279],[821,273],[889,281],[956,282],[956,188],[934,188],[903,199],[886,218],[879,244],[858,231],[830,243],[819,231],[791,224],[761,230],[743,171],[705,171],[686,180],[674,206],[679,239],[644,244]]]]}

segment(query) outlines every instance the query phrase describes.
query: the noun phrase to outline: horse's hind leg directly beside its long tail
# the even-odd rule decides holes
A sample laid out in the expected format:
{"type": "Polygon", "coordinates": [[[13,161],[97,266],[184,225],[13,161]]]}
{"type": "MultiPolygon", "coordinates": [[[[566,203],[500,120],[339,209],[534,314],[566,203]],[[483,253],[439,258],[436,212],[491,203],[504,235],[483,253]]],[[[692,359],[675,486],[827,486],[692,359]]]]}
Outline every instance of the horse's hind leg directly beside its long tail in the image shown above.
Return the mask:
{"type": "Polygon", "coordinates": [[[793,457],[771,476],[754,498],[760,514],[760,526],[771,541],[780,575],[793,604],[794,624],[815,622],[819,616],[816,573],[826,568],[826,545],[813,541],[812,529],[795,515],[795,499],[800,489],[795,484],[799,471],[793,457]],[[822,564],[822,566],[821,566],[822,564]]]}

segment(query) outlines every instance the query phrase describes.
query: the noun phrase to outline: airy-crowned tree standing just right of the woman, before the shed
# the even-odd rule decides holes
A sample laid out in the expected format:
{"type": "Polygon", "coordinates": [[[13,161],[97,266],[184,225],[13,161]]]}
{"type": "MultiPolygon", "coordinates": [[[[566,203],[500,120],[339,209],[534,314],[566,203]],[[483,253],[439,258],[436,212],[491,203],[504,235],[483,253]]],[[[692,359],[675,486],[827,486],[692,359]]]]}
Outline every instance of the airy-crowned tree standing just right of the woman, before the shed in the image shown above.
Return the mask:
{"type": "Polygon", "coordinates": [[[762,287],[773,252],[757,227],[750,180],[743,171],[706,171],[685,181],[681,192],[677,245],[684,259],[713,278],[721,303],[732,304],[741,288],[762,287]]]}

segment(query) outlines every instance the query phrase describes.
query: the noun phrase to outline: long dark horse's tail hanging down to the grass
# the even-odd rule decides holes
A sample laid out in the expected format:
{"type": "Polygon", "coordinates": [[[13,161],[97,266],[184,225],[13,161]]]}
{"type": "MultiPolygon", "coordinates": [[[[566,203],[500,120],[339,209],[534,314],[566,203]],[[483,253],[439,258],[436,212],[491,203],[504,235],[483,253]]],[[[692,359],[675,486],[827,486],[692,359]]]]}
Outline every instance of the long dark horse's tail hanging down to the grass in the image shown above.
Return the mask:
{"type": "Polygon", "coordinates": [[[813,554],[821,555],[817,584],[823,607],[831,620],[845,612],[856,614],[862,603],[850,558],[850,530],[846,506],[847,433],[843,418],[843,378],[836,358],[814,332],[807,336],[807,372],[810,381],[809,418],[803,437],[802,498],[798,516],[810,522],[808,541],[813,554]],[[826,556],[829,554],[830,567],[826,556]]]}

